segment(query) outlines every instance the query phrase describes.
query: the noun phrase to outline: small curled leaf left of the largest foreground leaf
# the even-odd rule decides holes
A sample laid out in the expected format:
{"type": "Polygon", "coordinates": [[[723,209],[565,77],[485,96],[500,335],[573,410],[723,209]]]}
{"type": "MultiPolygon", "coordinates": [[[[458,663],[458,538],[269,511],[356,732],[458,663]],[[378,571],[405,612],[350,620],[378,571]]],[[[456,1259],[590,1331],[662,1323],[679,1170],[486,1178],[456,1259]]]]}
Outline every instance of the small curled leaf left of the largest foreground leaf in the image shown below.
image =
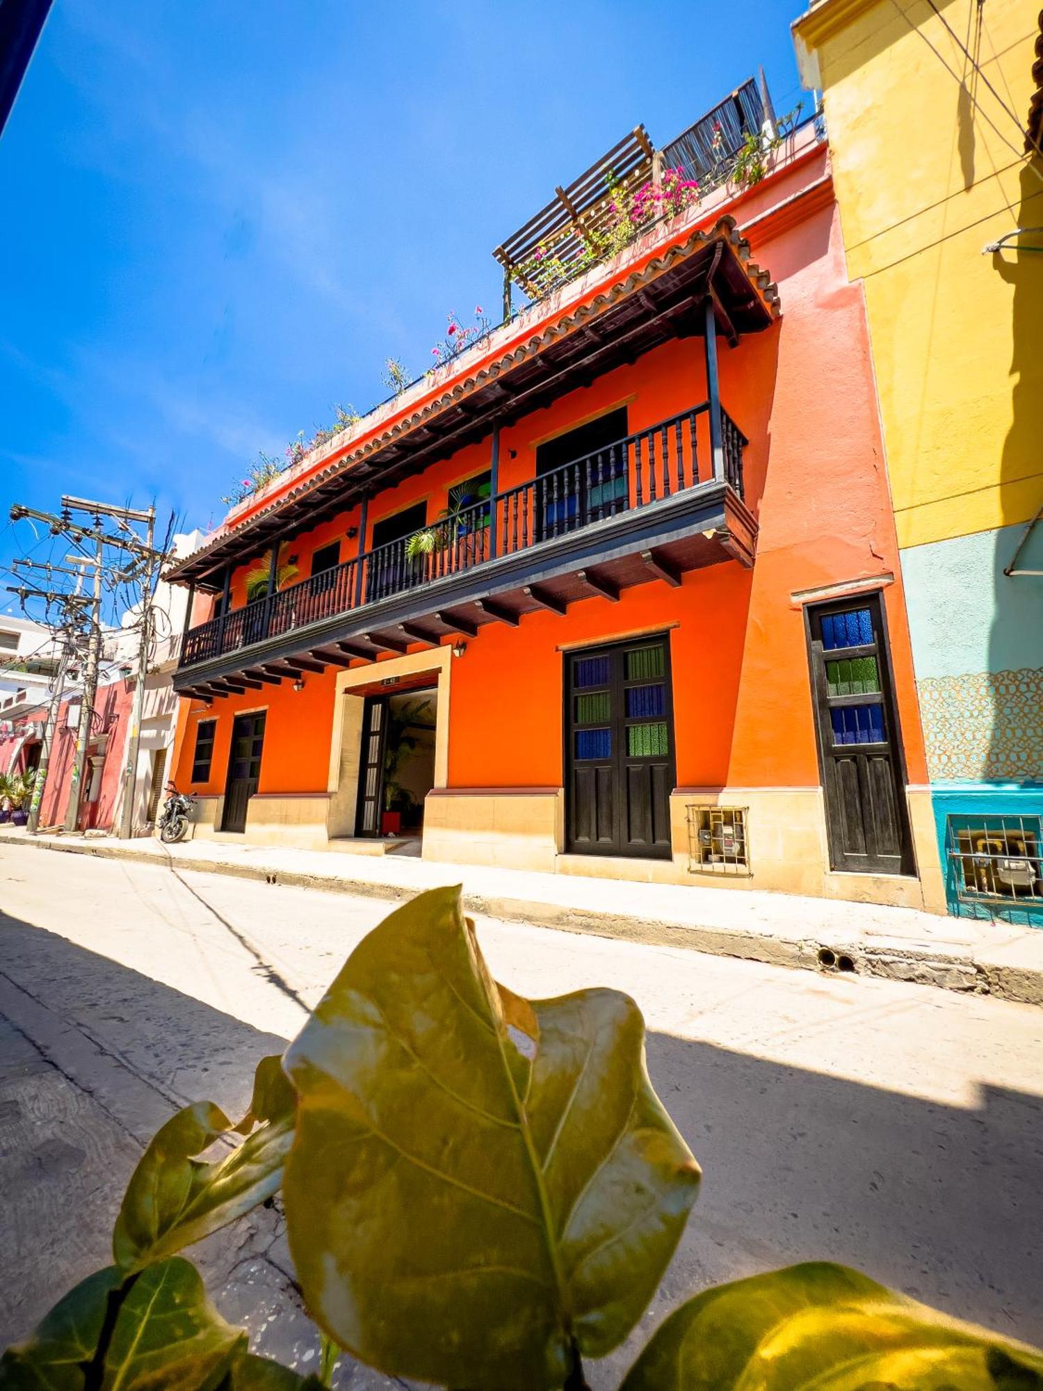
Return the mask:
{"type": "Polygon", "coordinates": [[[280,1059],[266,1057],[257,1066],[250,1110],[238,1125],[213,1102],[196,1102],[160,1127],[120,1209],[115,1263],[131,1271],[172,1256],[277,1192],[293,1138],[295,1103],[280,1059]],[[223,1159],[196,1157],[229,1131],[248,1138],[223,1159]]]}

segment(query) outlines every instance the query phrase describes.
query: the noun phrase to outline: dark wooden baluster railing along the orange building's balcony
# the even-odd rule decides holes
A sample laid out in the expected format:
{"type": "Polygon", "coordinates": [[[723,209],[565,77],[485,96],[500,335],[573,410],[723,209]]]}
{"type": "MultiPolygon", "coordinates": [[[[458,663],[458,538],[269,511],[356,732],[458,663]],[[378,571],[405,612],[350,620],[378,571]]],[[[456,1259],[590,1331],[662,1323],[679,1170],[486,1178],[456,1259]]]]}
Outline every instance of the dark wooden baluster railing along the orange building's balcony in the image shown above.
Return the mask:
{"type": "MultiPolygon", "coordinates": [[[[708,415],[709,403],[704,402],[661,420],[651,430],[616,440],[488,501],[453,512],[410,537],[388,541],[353,561],[200,623],[185,634],[179,666],[195,666],[253,647],[280,633],[420,588],[498,555],[528,549],[709,483],[713,462],[706,448],[708,423],[702,424],[702,459],[700,451],[700,423],[708,415]]],[[[745,444],[738,426],[722,410],[725,480],[740,498],[745,444]]]]}

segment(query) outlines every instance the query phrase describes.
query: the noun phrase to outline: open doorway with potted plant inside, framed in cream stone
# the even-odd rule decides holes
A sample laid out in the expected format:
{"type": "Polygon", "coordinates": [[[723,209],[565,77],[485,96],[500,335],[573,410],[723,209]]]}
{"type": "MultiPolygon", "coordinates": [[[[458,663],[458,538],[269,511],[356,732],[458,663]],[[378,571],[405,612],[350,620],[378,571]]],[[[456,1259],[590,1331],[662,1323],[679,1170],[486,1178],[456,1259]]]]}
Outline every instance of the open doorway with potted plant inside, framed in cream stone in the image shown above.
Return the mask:
{"type": "Polygon", "coordinates": [[[419,839],[435,782],[434,687],[367,696],[356,835],[419,839]]]}

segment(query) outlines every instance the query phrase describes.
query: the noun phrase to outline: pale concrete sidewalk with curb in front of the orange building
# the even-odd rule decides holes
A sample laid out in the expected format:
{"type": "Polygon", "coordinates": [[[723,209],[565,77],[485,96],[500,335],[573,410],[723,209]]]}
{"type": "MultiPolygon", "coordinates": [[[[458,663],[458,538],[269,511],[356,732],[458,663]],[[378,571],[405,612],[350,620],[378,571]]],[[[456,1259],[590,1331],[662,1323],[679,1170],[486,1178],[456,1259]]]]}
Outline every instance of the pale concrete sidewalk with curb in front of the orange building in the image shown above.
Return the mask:
{"type": "Polygon", "coordinates": [[[31,837],[4,828],[4,844],[394,900],[462,882],[467,911],[487,917],[1043,1004],[1043,932],[914,908],[224,842],[31,837]]]}

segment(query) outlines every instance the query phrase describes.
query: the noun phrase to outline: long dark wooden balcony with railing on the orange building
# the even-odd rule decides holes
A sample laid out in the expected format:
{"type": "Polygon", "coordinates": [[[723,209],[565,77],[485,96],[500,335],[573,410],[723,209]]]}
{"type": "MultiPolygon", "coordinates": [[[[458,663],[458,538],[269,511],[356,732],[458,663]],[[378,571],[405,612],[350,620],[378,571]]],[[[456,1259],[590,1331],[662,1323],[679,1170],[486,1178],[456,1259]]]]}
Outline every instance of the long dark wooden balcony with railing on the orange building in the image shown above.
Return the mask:
{"type": "Polygon", "coordinates": [[[727,559],[750,566],[745,438],[711,402],[191,629],[175,690],[228,696],[302,670],[474,637],[540,608],[727,559]],[[716,417],[716,419],[715,419],[716,417]]]}

